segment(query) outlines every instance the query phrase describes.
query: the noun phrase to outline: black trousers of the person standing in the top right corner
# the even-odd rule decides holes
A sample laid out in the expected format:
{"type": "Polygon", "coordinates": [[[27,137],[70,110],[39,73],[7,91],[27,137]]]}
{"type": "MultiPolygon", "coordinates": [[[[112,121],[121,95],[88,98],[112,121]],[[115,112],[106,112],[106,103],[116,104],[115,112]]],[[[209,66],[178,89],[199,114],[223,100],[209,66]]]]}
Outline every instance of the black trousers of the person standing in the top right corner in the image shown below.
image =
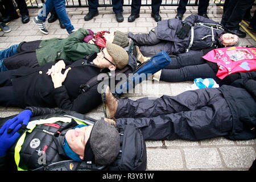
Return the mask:
{"type": "Polygon", "coordinates": [[[246,10],[253,5],[254,0],[230,0],[225,7],[221,24],[230,30],[237,30],[239,23],[245,16],[246,10]]]}

